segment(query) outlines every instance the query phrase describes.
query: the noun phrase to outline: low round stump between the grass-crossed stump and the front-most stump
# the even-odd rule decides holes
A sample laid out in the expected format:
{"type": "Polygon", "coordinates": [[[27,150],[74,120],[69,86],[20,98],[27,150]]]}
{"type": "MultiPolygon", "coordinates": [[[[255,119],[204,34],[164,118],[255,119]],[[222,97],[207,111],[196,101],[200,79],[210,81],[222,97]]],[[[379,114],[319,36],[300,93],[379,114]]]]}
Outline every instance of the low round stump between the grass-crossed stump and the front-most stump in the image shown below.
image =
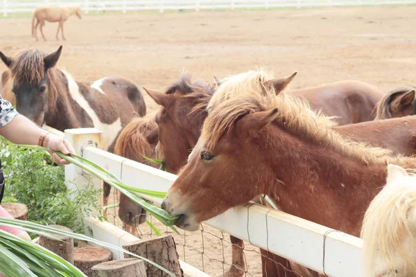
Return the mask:
{"type": "Polygon", "coordinates": [[[92,267],[112,260],[112,251],[103,247],[80,247],[73,250],[73,265],[92,276],[92,267]]]}

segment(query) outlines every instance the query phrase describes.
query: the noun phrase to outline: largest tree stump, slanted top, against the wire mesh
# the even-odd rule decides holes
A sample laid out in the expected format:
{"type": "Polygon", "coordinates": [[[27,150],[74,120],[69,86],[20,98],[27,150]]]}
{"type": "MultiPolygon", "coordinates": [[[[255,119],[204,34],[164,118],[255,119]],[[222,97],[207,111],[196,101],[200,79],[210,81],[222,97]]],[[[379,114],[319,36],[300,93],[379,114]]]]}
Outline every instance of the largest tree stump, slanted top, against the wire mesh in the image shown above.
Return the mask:
{"type": "MultiPolygon", "coordinates": [[[[171,235],[164,235],[159,238],[150,238],[146,240],[137,240],[136,242],[124,244],[123,248],[157,263],[165,269],[168,269],[168,271],[171,271],[177,277],[184,276],[183,271],[180,268],[179,255],[176,251],[175,240],[173,240],[171,235]]],[[[124,257],[134,258],[127,253],[124,253],[124,257]]],[[[158,269],[154,265],[150,265],[148,262],[144,262],[144,264],[146,265],[148,277],[169,276],[166,272],[158,269]]]]}

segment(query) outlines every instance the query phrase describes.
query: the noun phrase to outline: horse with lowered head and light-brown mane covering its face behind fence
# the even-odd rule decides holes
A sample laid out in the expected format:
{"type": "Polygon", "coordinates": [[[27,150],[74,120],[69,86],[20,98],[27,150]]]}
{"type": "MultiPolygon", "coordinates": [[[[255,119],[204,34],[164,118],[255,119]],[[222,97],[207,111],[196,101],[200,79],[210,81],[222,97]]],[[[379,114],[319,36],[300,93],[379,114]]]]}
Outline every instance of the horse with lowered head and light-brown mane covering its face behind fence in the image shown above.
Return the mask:
{"type": "MultiPolygon", "coordinates": [[[[156,158],[155,148],[158,134],[154,114],[147,115],[144,118],[134,118],[121,130],[114,145],[114,154],[144,163],[153,168],[159,168],[158,163],[144,158],[156,158]]],[[[136,226],[146,221],[146,210],[121,193],[119,217],[126,231],[137,235],[136,226]]]]}

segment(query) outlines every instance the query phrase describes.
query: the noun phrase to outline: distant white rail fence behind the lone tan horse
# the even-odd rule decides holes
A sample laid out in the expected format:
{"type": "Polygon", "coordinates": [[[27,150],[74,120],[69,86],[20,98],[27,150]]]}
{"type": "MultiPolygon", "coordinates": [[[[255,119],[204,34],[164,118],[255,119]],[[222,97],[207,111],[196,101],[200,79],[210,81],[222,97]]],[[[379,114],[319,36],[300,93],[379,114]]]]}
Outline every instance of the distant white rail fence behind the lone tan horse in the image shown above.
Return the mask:
{"type": "Polygon", "coordinates": [[[38,6],[79,5],[85,13],[141,10],[234,10],[269,8],[306,8],[329,6],[375,6],[415,4],[416,0],[0,0],[0,12],[6,17],[32,12],[38,6]],[[1,3],[1,1],[3,3],[1,3]]]}

